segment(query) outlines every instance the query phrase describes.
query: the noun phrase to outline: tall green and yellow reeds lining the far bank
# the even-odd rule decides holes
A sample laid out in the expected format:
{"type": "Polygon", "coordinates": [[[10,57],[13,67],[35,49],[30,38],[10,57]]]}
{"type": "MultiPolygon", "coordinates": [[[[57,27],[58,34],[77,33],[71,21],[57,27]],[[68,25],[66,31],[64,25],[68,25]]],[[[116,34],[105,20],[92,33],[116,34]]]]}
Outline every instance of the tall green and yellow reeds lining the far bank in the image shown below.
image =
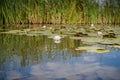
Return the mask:
{"type": "Polygon", "coordinates": [[[2,0],[0,24],[119,24],[119,0],[2,0]]]}

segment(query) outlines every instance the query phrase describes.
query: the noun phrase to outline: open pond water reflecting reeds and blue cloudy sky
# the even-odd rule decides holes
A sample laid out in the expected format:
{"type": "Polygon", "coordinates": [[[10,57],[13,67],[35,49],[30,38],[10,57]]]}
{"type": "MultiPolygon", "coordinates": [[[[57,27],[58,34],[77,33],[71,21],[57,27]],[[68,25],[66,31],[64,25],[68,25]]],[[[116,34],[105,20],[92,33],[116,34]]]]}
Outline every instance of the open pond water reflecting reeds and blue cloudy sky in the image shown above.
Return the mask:
{"type": "Polygon", "coordinates": [[[46,35],[0,34],[0,80],[120,80],[120,49],[75,50],[85,46],[66,36],[60,43],[46,35]]]}

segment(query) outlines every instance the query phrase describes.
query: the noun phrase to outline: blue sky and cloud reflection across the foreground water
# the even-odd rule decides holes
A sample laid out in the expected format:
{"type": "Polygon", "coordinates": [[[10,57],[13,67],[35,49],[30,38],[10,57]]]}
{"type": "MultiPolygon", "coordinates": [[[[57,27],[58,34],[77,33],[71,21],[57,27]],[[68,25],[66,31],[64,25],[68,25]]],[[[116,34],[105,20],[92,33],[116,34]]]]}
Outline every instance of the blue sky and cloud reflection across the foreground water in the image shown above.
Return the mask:
{"type": "MultiPolygon", "coordinates": [[[[61,55],[59,55],[61,56],[61,55]]],[[[0,71],[1,80],[119,80],[119,49],[107,54],[84,53],[65,61],[46,60],[21,67],[15,60],[12,68],[0,71]],[[16,67],[15,67],[16,65],[16,67]],[[3,78],[4,76],[4,78],[3,78]]],[[[17,56],[14,56],[17,59],[17,56]]]]}

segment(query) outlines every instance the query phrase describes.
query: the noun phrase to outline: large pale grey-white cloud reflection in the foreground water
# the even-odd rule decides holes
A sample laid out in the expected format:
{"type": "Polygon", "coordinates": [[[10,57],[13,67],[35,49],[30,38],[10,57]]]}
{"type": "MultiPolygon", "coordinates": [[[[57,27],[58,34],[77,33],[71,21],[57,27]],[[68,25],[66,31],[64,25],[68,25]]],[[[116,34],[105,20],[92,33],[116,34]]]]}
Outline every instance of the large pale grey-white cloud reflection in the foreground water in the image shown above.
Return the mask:
{"type": "MultiPolygon", "coordinates": [[[[29,79],[37,80],[119,80],[120,73],[117,69],[109,66],[101,66],[100,63],[82,64],[82,63],[59,63],[48,62],[45,65],[35,65],[31,67],[33,76],[29,79]]],[[[28,79],[28,80],[29,80],[28,79]]]]}

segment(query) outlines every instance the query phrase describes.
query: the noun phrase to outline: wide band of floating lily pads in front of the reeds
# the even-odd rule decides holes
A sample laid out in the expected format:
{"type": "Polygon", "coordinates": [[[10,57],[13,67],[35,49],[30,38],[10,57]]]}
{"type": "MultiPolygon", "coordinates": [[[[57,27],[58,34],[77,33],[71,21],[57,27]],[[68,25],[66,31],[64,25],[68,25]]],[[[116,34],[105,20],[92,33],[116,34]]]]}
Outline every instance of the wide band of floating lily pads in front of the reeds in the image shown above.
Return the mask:
{"type": "MultiPolygon", "coordinates": [[[[95,29],[91,29],[90,26],[83,27],[76,25],[56,25],[56,26],[47,25],[45,28],[39,26],[39,27],[6,30],[0,32],[0,34],[23,35],[28,37],[39,37],[41,35],[44,35],[51,40],[54,40],[55,36],[60,36],[61,39],[68,37],[69,40],[81,41],[83,44],[87,44],[87,45],[101,44],[101,45],[110,45],[112,47],[119,48],[120,46],[119,26],[114,26],[114,27],[94,26],[94,28],[95,29]],[[98,30],[101,30],[103,37],[98,36],[97,34],[98,30]]],[[[97,48],[97,49],[100,49],[100,51],[101,49],[103,50],[103,48],[97,48]]],[[[95,48],[95,50],[97,49],[95,48]]]]}

